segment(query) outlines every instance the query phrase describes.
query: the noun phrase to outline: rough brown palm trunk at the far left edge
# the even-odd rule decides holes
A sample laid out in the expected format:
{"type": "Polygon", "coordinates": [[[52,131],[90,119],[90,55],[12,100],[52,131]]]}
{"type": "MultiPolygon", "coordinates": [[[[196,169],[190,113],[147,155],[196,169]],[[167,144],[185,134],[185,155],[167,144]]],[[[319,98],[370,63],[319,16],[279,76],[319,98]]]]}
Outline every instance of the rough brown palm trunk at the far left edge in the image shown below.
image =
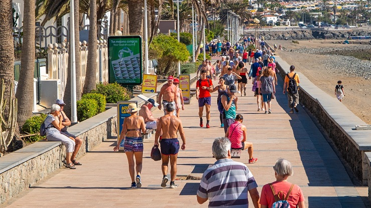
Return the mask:
{"type": "MultiPolygon", "coordinates": [[[[14,46],[12,0],[0,1],[0,81],[4,79],[6,87],[4,96],[9,98],[11,84],[14,83],[14,46]]],[[[0,86],[1,87],[1,86],[0,86]]],[[[14,93],[13,93],[14,95],[14,93]]],[[[13,97],[15,98],[15,96],[13,97]]],[[[9,102],[9,101],[8,101],[9,102]]],[[[5,119],[8,119],[9,106],[5,106],[5,119]]]]}

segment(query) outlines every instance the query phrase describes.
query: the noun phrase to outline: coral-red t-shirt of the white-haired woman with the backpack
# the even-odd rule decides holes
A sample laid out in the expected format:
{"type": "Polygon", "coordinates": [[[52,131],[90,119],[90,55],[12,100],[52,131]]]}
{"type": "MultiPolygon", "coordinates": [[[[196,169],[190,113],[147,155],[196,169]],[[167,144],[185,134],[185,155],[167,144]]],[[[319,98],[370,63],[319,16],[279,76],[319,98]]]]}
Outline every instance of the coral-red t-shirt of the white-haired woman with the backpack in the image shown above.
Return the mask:
{"type": "MultiPolygon", "coordinates": [[[[274,190],[276,191],[276,194],[279,191],[282,191],[286,197],[286,194],[289,191],[292,183],[289,183],[287,181],[280,181],[280,182],[275,181],[272,184],[273,184],[274,190]]],[[[294,187],[292,187],[289,197],[287,198],[287,201],[290,203],[290,208],[295,208],[296,204],[304,200],[305,199],[304,199],[303,192],[301,191],[301,188],[298,185],[294,185],[294,187]]],[[[259,203],[262,205],[266,205],[268,207],[271,207],[272,204],[274,203],[274,196],[272,193],[271,186],[269,184],[265,184],[263,186],[259,203]]]]}

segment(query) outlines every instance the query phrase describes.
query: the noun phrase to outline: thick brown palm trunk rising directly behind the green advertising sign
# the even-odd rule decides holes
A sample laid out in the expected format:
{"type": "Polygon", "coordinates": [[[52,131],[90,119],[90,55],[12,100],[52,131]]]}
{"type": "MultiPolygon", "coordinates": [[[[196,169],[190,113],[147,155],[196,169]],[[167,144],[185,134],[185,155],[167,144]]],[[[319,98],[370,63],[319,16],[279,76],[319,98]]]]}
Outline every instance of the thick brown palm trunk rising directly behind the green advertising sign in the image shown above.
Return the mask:
{"type": "Polygon", "coordinates": [[[142,0],[128,0],[127,1],[129,9],[129,32],[143,34],[143,6],[144,2],[142,0]]]}

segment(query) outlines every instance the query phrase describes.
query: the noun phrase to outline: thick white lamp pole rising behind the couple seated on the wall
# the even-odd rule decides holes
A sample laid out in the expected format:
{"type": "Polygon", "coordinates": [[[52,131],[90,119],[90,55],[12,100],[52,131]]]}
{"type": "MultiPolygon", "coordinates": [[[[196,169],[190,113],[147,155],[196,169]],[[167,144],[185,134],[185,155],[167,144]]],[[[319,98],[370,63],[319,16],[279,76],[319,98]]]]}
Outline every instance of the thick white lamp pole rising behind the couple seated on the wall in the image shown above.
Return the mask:
{"type": "MultiPolygon", "coordinates": [[[[70,1],[70,53],[71,53],[71,122],[77,122],[76,98],[76,57],[75,57],[75,8],[74,0],[70,1]]],[[[79,83],[80,84],[80,83],[79,83]]]]}

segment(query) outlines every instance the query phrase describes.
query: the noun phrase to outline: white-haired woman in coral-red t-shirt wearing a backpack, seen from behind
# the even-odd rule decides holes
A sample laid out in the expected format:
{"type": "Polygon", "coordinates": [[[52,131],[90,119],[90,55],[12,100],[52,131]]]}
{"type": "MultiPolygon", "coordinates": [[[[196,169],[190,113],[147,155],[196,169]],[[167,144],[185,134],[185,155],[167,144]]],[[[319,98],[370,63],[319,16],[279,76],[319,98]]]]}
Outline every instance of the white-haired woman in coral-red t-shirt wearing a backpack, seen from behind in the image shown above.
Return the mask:
{"type": "Polygon", "coordinates": [[[304,195],[298,185],[287,182],[287,178],[294,174],[291,162],[279,158],[273,166],[276,181],[265,184],[260,195],[261,208],[272,207],[279,200],[286,200],[291,208],[305,208],[304,195]],[[274,193],[274,194],[273,194],[274,193]]]}

